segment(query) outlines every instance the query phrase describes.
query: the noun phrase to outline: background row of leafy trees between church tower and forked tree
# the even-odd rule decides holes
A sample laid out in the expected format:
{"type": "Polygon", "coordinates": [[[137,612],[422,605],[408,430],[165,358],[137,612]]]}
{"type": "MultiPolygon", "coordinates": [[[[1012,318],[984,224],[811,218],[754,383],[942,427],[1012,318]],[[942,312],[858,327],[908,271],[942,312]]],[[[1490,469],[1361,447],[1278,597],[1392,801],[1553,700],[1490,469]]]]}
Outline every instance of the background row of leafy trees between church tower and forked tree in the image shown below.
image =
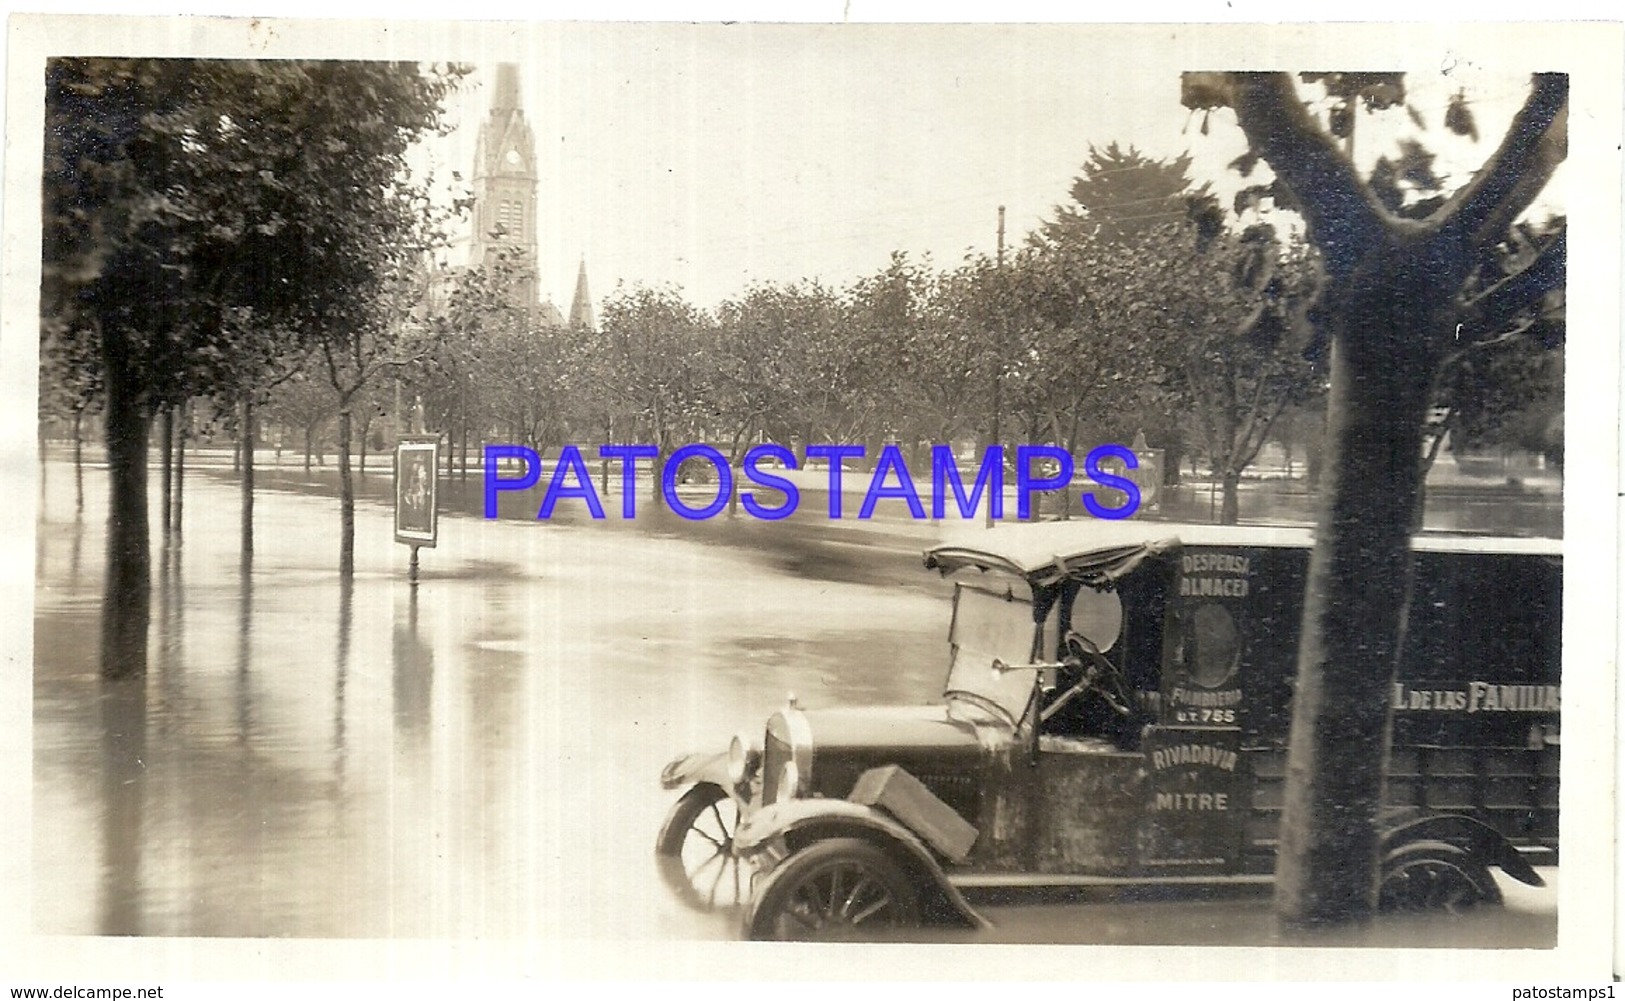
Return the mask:
{"type": "Polygon", "coordinates": [[[843,288],[764,283],[713,310],[618,288],[598,332],[538,330],[509,262],[462,273],[403,372],[429,424],[536,448],[704,436],[738,460],[778,442],[1055,442],[1144,431],[1242,471],[1323,377],[1303,358],[1315,257],[1264,223],[1232,232],[1190,161],[1090,150],[1072,203],[1008,257],[897,254],[843,288]]]}

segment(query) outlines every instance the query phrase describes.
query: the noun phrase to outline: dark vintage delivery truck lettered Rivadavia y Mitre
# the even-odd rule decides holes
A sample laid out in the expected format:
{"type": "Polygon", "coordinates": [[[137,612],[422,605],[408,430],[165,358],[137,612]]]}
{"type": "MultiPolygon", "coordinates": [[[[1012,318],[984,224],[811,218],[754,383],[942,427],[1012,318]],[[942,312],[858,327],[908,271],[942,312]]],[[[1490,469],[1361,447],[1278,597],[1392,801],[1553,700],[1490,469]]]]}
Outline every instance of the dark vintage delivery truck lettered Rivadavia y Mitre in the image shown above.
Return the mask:
{"type": "MultiPolygon", "coordinates": [[[[663,874],[759,939],[975,925],[968,887],[1268,881],[1311,543],[1053,522],[930,549],[942,702],[791,699],[759,741],[671,762],[663,874]]],[[[1557,861],[1560,552],[1414,540],[1383,908],[1493,905],[1493,868],[1557,861]]]]}

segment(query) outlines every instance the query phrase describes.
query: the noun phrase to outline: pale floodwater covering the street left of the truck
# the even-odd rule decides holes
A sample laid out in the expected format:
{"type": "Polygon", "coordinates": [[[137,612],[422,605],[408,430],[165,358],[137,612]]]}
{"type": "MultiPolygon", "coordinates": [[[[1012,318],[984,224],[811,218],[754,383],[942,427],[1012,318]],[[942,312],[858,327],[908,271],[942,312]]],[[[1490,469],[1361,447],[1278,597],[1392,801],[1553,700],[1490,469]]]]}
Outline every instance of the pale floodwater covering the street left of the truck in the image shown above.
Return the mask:
{"type": "MultiPolygon", "coordinates": [[[[102,681],[102,473],[47,470],[34,928],[67,934],[733,938],[658,881],[661,765],[821,704],[930,700],[942,606],[621,528],[442,522],[190,478],[154,531],[151,665],[102,681]],[[853,670],[853,665],[861,665],[853,670]]],[[[156,528],[156,525],[154,525],[156,528]]],[[[916,564],[915,564],[916,566],[916,564]]]]}

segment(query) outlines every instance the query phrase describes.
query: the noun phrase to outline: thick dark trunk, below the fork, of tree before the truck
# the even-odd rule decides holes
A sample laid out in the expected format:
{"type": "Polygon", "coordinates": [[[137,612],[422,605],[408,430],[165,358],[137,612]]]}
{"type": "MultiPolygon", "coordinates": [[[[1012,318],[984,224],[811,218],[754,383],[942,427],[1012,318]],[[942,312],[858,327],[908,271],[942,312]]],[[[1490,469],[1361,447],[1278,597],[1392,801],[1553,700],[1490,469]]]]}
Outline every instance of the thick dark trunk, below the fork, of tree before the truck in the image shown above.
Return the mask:
{"type": "Polygon", "coordinates": [[[1362,291],[1344,299],[1346,322],[1360,328],[1332,344],[1324,494],[1292,696],[1276,908],[1298,926],[1376,910],[1376,812],[1410,598],[1433,317],[1393,284],[1362,291]]]}

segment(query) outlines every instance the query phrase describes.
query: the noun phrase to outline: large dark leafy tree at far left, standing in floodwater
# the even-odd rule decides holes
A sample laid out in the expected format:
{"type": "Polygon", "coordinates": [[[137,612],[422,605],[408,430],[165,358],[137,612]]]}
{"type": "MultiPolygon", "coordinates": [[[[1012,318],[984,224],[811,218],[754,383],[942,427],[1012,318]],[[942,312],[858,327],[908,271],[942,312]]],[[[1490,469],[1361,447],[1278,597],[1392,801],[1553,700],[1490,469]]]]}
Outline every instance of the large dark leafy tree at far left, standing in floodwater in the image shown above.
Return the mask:
{"type": "MultiPolygon", "coordinates": [[[[52,58],[42,332],[94,344],[109,462],[102,673],[146,670],[151,418],[370,291],[401,154],[448,75],[411,63],[52,58]]],[[[384,245],[384,254],[388,245],[384,245]]]]}

